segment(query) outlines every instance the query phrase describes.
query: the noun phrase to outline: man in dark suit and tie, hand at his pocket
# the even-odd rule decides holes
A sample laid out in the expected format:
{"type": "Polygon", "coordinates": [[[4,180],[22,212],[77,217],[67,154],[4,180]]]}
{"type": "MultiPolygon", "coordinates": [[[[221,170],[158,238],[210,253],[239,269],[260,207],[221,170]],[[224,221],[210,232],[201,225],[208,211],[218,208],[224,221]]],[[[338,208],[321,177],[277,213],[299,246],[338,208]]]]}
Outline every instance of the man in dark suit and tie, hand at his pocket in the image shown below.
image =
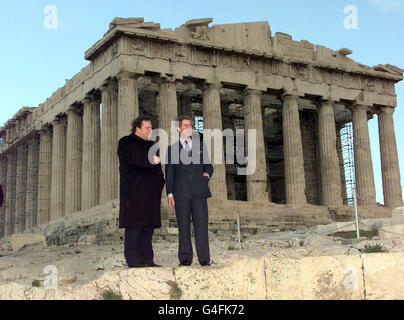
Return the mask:
{"type": "Polygon", "coordinates": [[[179,231],[178,258],[180,266],[192,264],[192,213],[199,263],[210,266],[207,198],[212,196],[208,182],[213,166],[199,134],[192,130],[190,117],[179,118],[178,132],[179,141],[168,147],[165,166],[168,203],[175,208],[179,231]]]}

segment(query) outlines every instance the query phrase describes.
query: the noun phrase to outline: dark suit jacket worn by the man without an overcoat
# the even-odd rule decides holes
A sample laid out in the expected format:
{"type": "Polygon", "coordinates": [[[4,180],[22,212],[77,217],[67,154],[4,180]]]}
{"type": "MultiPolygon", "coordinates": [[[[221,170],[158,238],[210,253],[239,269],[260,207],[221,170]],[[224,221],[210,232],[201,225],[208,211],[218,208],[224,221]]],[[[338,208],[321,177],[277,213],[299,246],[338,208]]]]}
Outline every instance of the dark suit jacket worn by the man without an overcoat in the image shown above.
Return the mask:
{"type": "Polygon", "coordinates": [[[180,154],[183,147],[180,141],[167,149],[166,191],[167,195],[172,193],[176,200],[197,197],[210,198],[212,196],[209,180],[213,175],[213,166],[208,161],[208,152],[204,143],[202,141],[200,143],[195,142],[194,140],[192,142],[192,161],[189,164],[181,159],[180,154]],[[197,161],[198,159],[199,161],[197,161]],[[209,178],[203,175],[205,172],[209,174],[209,178]]]}

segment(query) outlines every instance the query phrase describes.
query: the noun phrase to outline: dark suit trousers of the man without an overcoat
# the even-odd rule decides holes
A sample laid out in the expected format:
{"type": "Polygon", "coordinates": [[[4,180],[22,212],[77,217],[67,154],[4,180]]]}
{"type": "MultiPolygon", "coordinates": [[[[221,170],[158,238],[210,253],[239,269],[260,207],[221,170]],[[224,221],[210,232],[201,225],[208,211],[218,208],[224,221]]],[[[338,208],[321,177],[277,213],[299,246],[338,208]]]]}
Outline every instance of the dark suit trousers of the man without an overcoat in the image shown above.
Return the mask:
{"type": "Polygon", "coordinates": [[[192,262],[191,212],[195,232],[195,246],[199,262],[210,263],[208,238],[208,204],[206,198],[181,199],[175,201],[175,214],[179,230],[178,259],[192,262]]]}

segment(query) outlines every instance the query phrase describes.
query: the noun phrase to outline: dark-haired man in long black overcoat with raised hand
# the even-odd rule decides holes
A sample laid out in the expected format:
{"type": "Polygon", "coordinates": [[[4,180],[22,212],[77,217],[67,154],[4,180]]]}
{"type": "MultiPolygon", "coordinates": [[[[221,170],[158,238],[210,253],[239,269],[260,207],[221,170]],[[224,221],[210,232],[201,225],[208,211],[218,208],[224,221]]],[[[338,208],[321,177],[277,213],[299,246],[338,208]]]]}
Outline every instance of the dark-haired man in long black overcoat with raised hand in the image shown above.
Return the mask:
{"type": "Polygon", "coordinates": [[[152,237],[161,228],[164,175],[160,158],[149,160],[152,124],[147,117],[132,122],[132,133],[118,143],[120,173],[119,228],[125,228],[125,258],[130,268],[156,267],[152,237]]]}

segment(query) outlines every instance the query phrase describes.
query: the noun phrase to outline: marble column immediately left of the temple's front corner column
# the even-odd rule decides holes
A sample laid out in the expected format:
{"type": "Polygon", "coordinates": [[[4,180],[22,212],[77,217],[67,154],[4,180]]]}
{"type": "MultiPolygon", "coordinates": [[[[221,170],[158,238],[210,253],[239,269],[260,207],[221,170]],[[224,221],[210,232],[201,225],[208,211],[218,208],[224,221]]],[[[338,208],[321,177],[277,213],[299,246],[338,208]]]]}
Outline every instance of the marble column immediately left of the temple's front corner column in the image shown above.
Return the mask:
{"type": "Polygon", "coordinates": [[[102,92],[100,204],[117,199],[118,195],[118,85],[111,80],[102,92]]]}

